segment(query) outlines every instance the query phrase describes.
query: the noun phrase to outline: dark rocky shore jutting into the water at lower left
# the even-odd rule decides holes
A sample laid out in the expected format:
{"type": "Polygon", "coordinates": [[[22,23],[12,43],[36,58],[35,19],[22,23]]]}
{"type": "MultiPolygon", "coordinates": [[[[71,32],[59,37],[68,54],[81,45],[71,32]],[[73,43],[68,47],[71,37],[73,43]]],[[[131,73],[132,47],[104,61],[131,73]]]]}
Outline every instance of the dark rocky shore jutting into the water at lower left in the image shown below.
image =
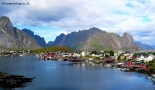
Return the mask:
{"type": "Polygon", "coordinates": [[[8,75],[7,73],[0,72],[0,88],[15,89],[22,88],[29,85],[33,78],[27,78],[22,75],[8,75]]]}

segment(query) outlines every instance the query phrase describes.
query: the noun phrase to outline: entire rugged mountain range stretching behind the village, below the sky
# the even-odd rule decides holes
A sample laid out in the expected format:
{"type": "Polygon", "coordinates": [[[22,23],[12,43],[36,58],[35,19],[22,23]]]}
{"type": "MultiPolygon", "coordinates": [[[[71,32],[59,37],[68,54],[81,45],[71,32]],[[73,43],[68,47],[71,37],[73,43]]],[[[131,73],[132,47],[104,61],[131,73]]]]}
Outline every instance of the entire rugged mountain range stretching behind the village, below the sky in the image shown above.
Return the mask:
{"type": "Polygon", "coordinates": [[[74,50],[144,50],[155,49],[141,42],[134,41],[133,37],[124,33],[123,36],[109,33],[96,27],[67,35],[60,34],[55,41],[46,42],[43,37],[34,35],[29,29],[20,30],[13,27],[10,19],[0,17],[0,52],[7,48],[14,49],[37,49],[46,46],[67,46],[74,50]]]}

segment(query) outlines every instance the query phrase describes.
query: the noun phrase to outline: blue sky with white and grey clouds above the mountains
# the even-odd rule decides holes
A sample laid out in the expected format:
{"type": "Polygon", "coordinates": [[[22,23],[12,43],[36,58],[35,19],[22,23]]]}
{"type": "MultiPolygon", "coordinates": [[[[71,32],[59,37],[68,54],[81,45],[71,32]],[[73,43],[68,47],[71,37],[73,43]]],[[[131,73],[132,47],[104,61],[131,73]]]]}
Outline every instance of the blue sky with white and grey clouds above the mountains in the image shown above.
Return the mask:
{"type": "Polygon", "coordinates": [[[0,0],[14,27],[54,41],[61,33],[97,27],[155,45],[155,0],[0,0]],[[7,3],[25,3],[25,5],[7,3]]]}

